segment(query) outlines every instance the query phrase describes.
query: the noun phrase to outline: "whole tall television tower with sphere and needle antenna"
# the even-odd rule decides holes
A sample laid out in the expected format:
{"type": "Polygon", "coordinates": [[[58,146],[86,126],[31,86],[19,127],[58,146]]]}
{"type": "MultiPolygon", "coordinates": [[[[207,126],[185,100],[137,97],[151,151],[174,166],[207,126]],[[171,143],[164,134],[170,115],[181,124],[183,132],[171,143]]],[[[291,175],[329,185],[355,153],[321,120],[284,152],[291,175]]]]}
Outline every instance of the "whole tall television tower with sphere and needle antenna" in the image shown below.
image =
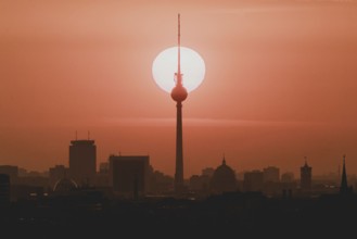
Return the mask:
{"type": "Polygon", "coordinates": [[[180,52],[180,14],[178,14],[178,61],[177,73],[174,75],[175,87],[171,90],[171,98],[175,100],[177,108],[176,115],[176,169],[175,169],[175,192],[181,193],[183,186],[183,149],[182,149],[182,101],[188,97],[188,91],[182,85],[181,73],[181,52],[180,52]]]}

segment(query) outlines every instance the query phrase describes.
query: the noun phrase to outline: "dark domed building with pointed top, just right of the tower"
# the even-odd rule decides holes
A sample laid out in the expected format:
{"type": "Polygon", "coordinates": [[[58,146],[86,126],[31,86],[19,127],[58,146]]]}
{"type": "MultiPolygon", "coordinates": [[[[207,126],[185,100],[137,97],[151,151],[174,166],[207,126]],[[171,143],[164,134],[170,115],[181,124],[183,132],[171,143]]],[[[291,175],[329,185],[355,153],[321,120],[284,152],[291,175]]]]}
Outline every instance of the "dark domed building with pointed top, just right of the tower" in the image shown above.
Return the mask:
{"type": "Polygon", "coordinates": [[[228,191],[237,191],[237,178],[234,171],[226,164],[224,156],[221,165],[219,165],[211,179],[211,192],[222,193],[228,191]]]}

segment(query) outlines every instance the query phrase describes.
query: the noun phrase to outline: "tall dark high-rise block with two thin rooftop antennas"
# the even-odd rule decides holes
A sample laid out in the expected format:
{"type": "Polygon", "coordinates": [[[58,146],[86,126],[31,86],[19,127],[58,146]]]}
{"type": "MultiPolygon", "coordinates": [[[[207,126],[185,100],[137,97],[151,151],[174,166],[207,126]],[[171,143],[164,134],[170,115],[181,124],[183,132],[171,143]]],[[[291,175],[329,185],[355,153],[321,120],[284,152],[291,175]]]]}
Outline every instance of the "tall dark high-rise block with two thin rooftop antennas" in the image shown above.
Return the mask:
{"type": "Polygon", "coordinates": [[[79,187],[93,186],[97,173],[94,140],[72,140],[69,146],[69,175],[79,187]]]}

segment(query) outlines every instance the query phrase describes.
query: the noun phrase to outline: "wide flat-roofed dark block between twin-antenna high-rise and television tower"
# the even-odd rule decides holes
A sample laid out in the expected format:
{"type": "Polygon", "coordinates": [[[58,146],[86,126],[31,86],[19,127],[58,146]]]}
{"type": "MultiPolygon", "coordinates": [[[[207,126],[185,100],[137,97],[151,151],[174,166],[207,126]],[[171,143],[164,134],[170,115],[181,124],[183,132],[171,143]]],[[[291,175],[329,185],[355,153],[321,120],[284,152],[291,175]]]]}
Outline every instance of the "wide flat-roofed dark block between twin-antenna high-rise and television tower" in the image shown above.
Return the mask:
{"type": "Polygon", "coordinates": [[[149,186],[149,155],[111,155],[113,190],[127,198],[144,196],[149,186]]]}

